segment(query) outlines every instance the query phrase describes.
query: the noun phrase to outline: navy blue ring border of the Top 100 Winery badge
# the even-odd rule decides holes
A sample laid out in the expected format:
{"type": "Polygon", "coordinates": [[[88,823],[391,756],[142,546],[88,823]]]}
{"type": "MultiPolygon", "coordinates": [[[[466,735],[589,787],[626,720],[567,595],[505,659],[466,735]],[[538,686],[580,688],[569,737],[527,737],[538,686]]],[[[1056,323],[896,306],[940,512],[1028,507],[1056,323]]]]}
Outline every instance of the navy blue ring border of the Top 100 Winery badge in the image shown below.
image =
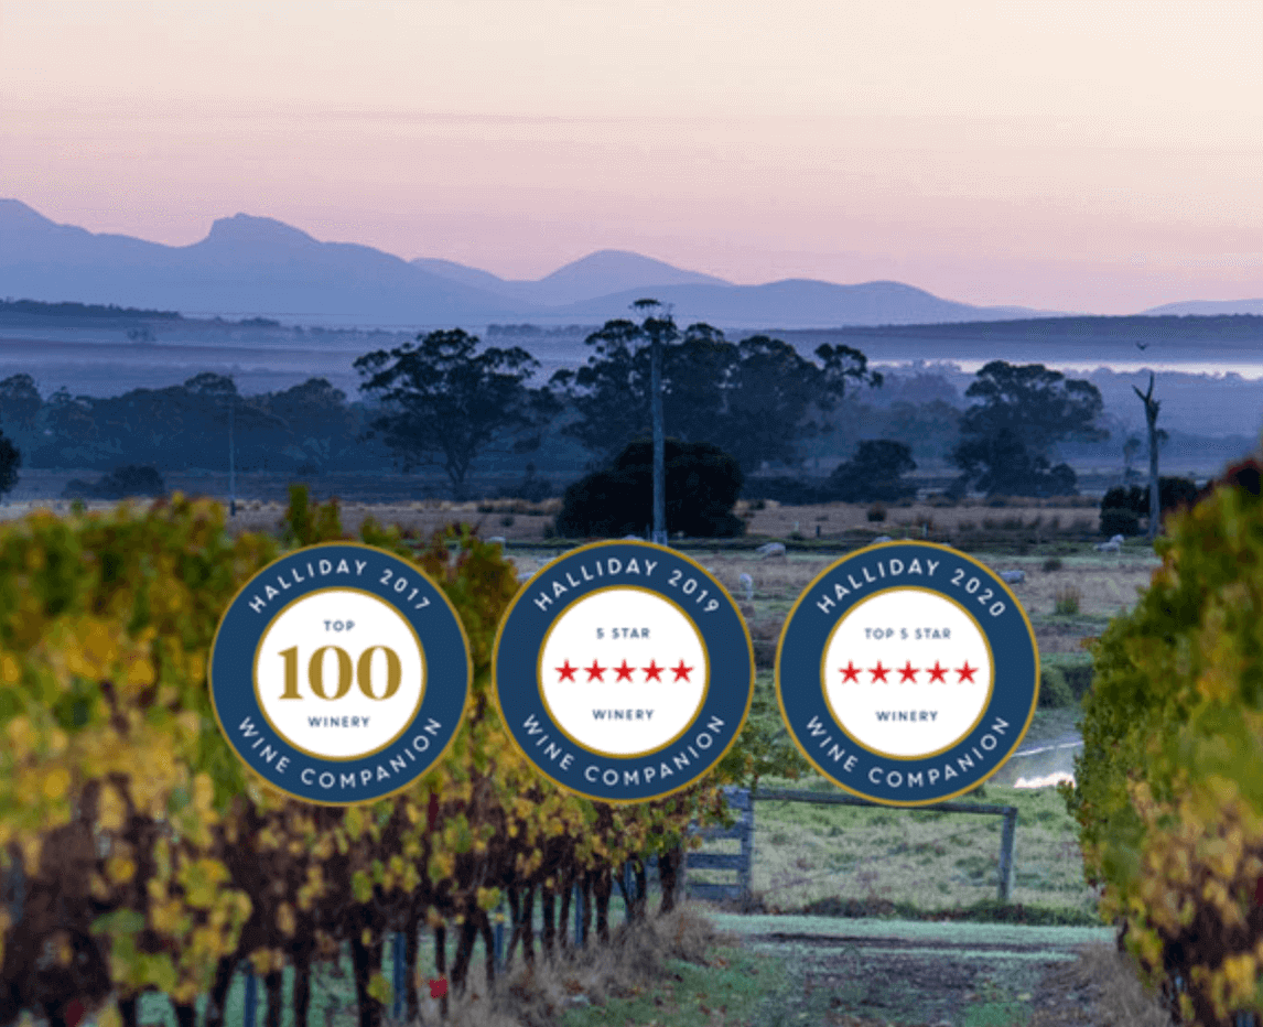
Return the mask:
{"type": "Polygon", "coordinates": [[[472,662],[469,654],[469,640],[456,608],[434,582],[417,566],[408,563],[386,550],[356,542],[332,542],[294,550],[273,561],[254,575],[234,596],[224,613],[211,643],[208,667],[211,706],[215,719],[237,758],[255,774],[274,788],[292,798],[321,806],[352,806],[378,800],[405,791],[429,771],[451,747],[460,729],[472,683],[472,662]],[[308,574],[307,565],[318,560],[337,562],[346,560],[354,568],[355,561],[366,561],[362,574],[350,576],[331,574],[328,576],[308,574]],[[383,584],[383,570],[393,574],[390,584],[383,584]],[[297,574],[296,574],[297,572],[297,574]],[[410,601],[402,600],[392,587],[398,577],[409,581],[404,595],[413,587],[418,592],[410,601]],[[302,577],[303,580],[297,580],[302,577]],[[282,582],[288,585],[283,587],[282,582]],[[280,596],[270,600],[261,611],[251,609],[251,601],[272,586],[280,596]],[[254,686],[254,657],[259,640],[272,620],[289,604],[317,591],[337,587],[355,587],[373,595],[397,610],[417,632],[426,656],[426,688],[421,707],[410,725],[390,745],[361,759],[323,760],[290,745],[268,724],[254,686]],[[423,609],[414,609],[423,599],[429,603],[423,609]],[[251,745],[239,745],[244,734],[242,723],[249,718],[258,735],[250,735],[251,745]],[[427,730],[431,720],[441,726],[427,730]],[[263,736],[263,744],[253,747],[253,740],[263,736]],[[418,736],[426,739],[422,749],[418,736]],[[264,760],[260,753],[266,748],[278,753],[264,760]],[[283,772],[277,767],[282,757],[288,757],[283,772]],[[403,760],[404,771],[390,767],[403,760]],[[379,766],[388,768],[389,779],[379,779],[379,766]],[[304,783],[306,768],[312,768],[311,783],[304,783]],[[370,782],[362,782],[362,772],[373,774],[370,782]],[[332,773],[338,786],[322,787],[321,774],[332,773]],[[344,774],[355,774],[354,788],[341,787],[344,774]],[[400,781],[402,774],[407,779],[400,781]],[[349,795],[344,796],[344,792],[349,795]],[[333,795],[344,797],[332,797],[333,795]]]}

